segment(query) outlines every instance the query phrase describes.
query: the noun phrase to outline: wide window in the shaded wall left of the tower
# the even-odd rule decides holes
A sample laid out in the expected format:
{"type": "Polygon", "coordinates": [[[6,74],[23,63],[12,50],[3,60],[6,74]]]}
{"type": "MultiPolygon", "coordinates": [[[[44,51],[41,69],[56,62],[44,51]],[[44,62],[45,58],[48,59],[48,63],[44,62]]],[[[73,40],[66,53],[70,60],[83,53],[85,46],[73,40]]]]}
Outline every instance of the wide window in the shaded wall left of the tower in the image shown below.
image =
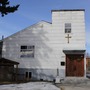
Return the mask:
{"type": "Polygon", "coordinates": [[[26,57],[30,57],[30,58],[34,58],[34,46],[21,46],[21,50],[20,50],[20,57],[22,58],[26,58],[26,57]]]}

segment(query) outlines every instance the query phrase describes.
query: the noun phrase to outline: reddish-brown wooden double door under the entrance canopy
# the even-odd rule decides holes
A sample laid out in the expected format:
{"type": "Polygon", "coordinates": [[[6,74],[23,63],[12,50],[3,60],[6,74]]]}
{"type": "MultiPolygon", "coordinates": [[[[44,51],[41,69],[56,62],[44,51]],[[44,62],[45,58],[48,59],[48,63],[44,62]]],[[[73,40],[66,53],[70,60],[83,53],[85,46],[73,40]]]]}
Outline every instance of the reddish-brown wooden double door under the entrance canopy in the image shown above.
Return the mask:
{"type": "Polygon", "coordinates": [[[66,55],[66,76],[84,76],[84,55],[66,55]]]}

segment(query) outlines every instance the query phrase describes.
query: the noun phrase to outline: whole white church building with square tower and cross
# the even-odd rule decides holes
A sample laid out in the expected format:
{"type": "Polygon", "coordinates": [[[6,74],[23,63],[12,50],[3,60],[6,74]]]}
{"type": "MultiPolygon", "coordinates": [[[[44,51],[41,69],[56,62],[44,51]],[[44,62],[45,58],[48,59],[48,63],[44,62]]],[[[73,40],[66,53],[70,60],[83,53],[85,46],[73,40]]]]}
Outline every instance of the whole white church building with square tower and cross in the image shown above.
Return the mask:
{"type": "Polygon", "coordinates": [[[52,23],[40,21],[3,40],[2,57],[19,62],[19,79],[86,77],[84,11],[52,10],[52,23]]]}

